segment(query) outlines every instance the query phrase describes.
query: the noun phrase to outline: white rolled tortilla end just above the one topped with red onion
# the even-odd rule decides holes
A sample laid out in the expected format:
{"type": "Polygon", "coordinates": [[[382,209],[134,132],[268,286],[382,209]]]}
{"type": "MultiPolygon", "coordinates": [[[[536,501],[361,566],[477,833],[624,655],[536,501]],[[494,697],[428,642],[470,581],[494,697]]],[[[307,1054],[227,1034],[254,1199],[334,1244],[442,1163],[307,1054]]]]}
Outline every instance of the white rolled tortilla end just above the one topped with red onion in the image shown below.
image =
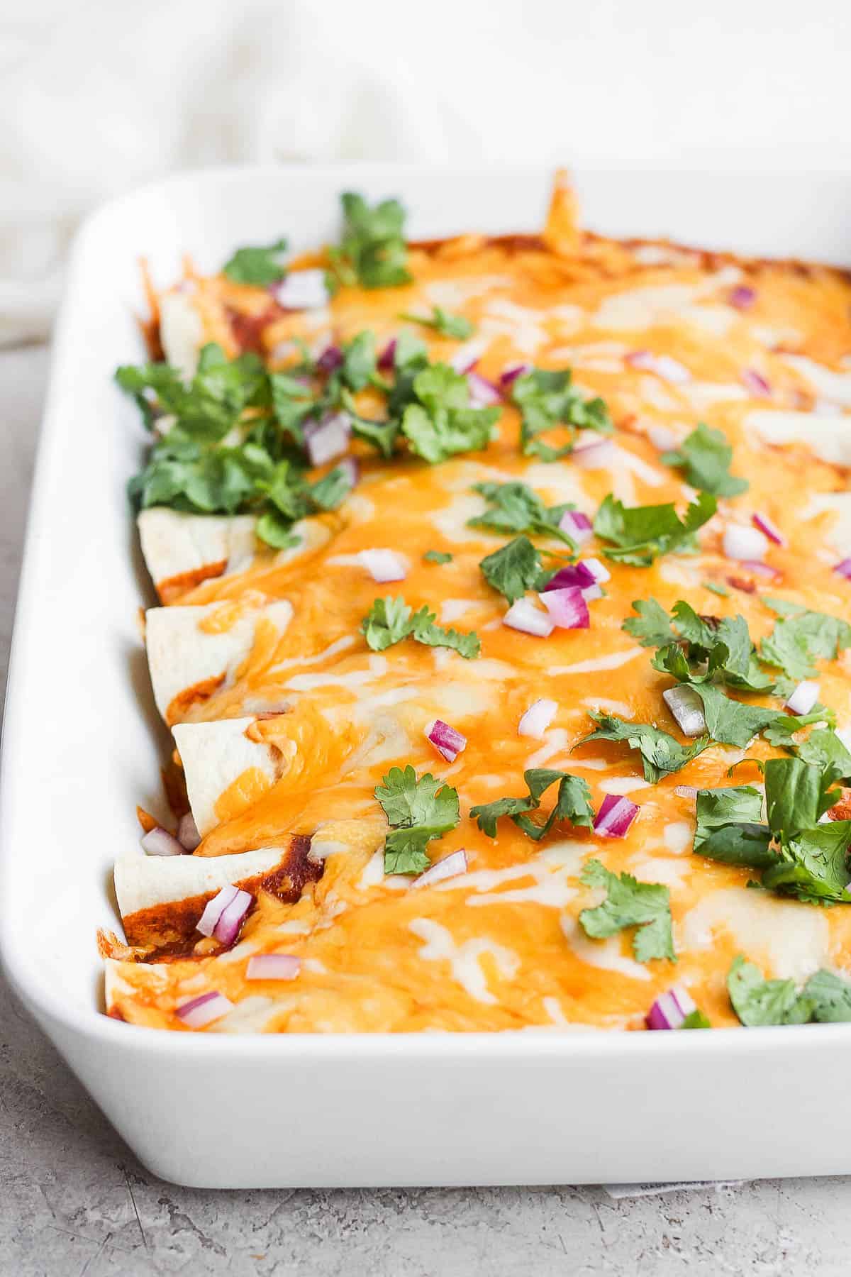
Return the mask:
{"type": "Polygon", "coordinates": [[[219,824],[217,805],[226,790],[233,787],[230,813],[235,815],[281,775],[279,751],[246,736],[254,722],[254,718],[218,719],[177,723],[174,728],[189,806],[202,838],[219,824]]]}

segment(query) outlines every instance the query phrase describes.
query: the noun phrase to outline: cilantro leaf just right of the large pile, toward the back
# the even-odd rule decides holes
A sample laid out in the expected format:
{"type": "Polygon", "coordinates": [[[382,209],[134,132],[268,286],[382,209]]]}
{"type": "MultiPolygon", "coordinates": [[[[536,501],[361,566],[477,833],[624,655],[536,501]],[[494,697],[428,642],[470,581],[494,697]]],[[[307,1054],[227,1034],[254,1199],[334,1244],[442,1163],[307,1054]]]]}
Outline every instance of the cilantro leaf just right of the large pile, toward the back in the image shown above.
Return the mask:
{"type": "Polygon", "coordinates": [[[533,368],[512,386],[512,401],[521,410],[521,450],[524,456],[556,461],[573,451],[579,429],[610,432],[609,410],[601,398],[586,400],[572,386],[570,369],[533,368]],[[538,438],[558,427],[566,428],[568,441],[552,447],[538,438]]]}

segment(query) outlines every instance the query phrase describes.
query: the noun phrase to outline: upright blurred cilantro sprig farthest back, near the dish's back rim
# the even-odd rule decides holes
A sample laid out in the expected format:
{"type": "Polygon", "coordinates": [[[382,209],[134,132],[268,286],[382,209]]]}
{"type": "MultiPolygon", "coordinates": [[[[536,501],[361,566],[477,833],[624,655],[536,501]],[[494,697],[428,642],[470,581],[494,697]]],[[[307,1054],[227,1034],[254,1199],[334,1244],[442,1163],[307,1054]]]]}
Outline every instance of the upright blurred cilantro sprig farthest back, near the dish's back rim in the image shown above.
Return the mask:
{"type": "Polygon", "coordinates": [[[343,234],[328,252],[341,283],[365,289],[393,289],[411,282],[404,243],[404,209],[398,199],[383,199],[373,208],[362,195],[347,192],[343,234]]]}

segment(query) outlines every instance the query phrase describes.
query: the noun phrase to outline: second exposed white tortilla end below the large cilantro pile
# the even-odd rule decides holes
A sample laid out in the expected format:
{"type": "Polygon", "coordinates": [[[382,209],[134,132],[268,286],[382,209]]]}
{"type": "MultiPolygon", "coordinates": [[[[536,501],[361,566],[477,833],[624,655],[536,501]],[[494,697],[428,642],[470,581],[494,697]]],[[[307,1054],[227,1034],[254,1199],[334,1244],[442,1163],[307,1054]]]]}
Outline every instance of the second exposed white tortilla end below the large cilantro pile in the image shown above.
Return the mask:
{"type": "Polygon", "coordinates": [[[180,722],[193,700],[232,682],[236,668],[251,650],[262,617],[270,621],[278,633],[283,633],[292,619],[291,604],[281,599],[263,608],[242,607],[228,628],[213,628],[209,618],[222,607],[231,605],[149,608],[145,614],[153,695],[168,724],[180,722]]]}

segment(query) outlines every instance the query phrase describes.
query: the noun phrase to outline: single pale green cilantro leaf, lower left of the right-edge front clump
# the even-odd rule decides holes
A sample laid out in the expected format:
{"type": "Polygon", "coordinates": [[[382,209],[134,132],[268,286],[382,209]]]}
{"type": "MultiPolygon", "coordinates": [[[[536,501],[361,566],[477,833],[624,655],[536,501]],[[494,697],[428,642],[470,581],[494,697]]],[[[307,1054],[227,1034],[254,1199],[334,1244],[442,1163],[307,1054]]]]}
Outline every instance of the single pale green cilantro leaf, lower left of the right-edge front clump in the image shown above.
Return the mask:
{"type": "Polygon", "coordinates": [[[671,931],[670,893],[661,882],[639,882],[632,873],[618,876],[600,861],[588,861],[581,881],[603,888],[606,899],[596,909],[583,909],[579,922],[595,940],[614,936],[624,927],[637,927],[633,953],[638,962],[670,958],[676,962],[671,931]]]}

